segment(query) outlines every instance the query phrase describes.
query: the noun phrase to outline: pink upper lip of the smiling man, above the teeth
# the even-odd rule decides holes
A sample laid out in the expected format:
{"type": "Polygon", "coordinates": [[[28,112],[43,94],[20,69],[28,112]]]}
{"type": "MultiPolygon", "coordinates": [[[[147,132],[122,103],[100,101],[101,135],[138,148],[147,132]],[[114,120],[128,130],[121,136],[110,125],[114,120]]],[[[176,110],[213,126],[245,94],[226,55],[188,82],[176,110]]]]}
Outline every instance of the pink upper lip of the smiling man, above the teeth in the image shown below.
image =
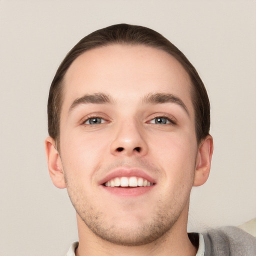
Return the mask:
{"type": "Polygon", "coordinates": [[[102,178],[99,181],[99,184],[102,185],[105,182],[107,182],[108,180],[115,178],[115,177],[132,177],[132,176],[142,177],[142,178],[148,180],[150,183],[156,183],[156,181],[153,177],[151,177],[150,175],[148,175],[145,171],[143,171],[141,169],[118,168],[118,169],[115,169],[115,170],[109,172],[106,176],[104,176],[104,178],[102,178]]]}

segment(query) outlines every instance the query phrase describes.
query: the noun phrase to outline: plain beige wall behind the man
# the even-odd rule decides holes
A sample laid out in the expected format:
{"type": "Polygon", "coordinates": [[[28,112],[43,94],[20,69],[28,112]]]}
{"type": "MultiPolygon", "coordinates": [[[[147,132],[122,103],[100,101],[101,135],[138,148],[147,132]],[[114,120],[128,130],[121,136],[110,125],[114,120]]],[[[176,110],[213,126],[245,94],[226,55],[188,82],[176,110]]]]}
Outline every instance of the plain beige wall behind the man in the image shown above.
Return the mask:
{"type": "Polygon", "coordinates": [[[0,255],[65,255],[77,239],[66,191],[47,172],[47,93],[67,51],[113,23],[162,33],[207,87],[214,155],[209,180],[192,190],[188,229],[256,217],[255,9],[255,0],[0,0],[0,255]]]}

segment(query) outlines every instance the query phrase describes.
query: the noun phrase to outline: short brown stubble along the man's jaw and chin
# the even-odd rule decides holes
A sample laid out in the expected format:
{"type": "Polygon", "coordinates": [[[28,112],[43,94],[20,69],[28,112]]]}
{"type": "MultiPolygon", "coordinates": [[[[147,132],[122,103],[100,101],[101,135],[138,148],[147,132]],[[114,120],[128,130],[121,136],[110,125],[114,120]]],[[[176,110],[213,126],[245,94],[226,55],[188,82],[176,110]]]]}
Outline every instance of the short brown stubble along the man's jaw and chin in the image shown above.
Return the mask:
{"type": "Polygon", "coordinates": [[[144,245],[164,237],[164,234],[170,232],[177,221],[182,208],[180,205],[175,205],[176,203],[164,207],[162,206],[164,203],[159,200],[156,203],[158,206],[155,207],[154,214],[150,219],[139,223],[136,221],[136,224],[127,226],[118,221],[107,223],[106,213],[95,210],[95,207],[87,203],[85,209],[84,205],[75,203],[75,201],[80,202],[80,200],[77,200],[77,198],[73,200],[73,193],[69,191],[68,194],[77,214],[96,236],[110,243],[123,246],[144,245]],[[174,209],[180,210],[173,212],[174,209]]]}

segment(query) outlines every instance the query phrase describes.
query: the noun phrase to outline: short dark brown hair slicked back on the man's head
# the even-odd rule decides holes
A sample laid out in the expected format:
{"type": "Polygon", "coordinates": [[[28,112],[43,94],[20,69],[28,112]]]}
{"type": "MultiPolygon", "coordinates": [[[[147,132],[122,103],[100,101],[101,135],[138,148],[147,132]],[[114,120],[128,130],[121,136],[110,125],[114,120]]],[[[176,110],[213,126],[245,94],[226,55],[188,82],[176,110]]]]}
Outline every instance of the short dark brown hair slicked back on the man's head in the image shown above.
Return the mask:
{"type": "Polygon", "coordinates": [[[210,104],[208,95],[197,71],[186,56],[169,40],[150,28],[129,24],[116,24],[96,30],[83,37],[60,63],[50,85],[47,106],[48,133],[56,142],[59,140],[63,78],[68,67],[83,52],[109,44],[146,45],[161,49],[178,60],[188,73],[192,83],[191,99],[195,111],[197,143],[209,134],[210,104]]]}

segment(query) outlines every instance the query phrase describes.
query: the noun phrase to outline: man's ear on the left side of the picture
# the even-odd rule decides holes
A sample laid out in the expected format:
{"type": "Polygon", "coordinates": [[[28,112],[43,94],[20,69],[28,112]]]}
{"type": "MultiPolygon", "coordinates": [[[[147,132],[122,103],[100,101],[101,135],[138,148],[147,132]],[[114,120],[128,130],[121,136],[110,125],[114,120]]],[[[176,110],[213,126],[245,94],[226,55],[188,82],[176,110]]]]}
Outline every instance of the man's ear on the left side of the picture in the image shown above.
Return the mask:
{"type": "Polygon", "coordinates": [[[48,163],[48,170],[53,184],[58,188],[65,188],[65,179],[63,174],[62,162],[56,149],[55,141],[52,137],[45,139],[45,152],[48,163]]]}

